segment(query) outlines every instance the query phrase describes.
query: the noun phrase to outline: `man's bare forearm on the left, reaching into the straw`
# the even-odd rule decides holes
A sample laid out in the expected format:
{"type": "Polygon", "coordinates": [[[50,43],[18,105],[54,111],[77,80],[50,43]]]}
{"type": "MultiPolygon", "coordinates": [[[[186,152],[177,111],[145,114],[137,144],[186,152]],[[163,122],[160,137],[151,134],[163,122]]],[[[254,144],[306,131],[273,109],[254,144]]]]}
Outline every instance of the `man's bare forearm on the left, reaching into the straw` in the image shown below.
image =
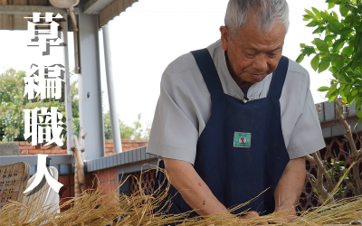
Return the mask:
{"type": "Polygon", "coordinates": [[[164,161],[170,183],[181,193],[191,208],[199,209],[196,211],[199,215],[216,214],[227,210],[196,173],[193,165],[169,158],[165,158],[164,161]]]}

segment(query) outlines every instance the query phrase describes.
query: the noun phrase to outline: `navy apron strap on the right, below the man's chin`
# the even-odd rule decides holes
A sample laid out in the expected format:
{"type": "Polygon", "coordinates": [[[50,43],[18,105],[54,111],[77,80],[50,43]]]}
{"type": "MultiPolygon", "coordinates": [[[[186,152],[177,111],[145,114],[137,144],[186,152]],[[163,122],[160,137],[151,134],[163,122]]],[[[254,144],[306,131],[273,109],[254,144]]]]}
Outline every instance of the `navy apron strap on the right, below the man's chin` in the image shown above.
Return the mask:
{"type": "Polygon", "coordinates": [[[285,78],[289,66],[289,59],[281,56],[277,69],[272,72],[271,86],[269,88],[268,97],[272,99],[281,99],[281,90],[284,85],[285,78]]]}

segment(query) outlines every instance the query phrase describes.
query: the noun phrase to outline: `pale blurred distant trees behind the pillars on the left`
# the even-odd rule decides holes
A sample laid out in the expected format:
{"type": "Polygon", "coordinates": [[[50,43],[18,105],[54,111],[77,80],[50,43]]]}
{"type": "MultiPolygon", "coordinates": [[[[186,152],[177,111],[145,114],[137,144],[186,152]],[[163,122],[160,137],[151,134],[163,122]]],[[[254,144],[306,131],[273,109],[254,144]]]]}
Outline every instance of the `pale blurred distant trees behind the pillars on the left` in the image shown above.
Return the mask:
{"type": "MultiPolygon", "coordinates": [[[[24,77],[25,71],[15,71],[14,69],[6,70],[0,74],[0,140],[5,142],[11,141],[24,141],[24,109],[33,108],[48,108],[57,107],[58,111],[62,112],[62,122],[65,123],[65,104],[64,95],[58,101],[39,100],[33,102],[24,97],[24,77]]],[[[71,78],[74,74],[71,72],[71,78]]],[[[103,92],[102,92],[103,96],[103,92]]],[[[78,82],[77,80],[71,81],[71,95],[67,97],[71,99],[71,112],[72,112],[72,129],[73,134],[78,137],[80,122],[79,122],[79,104],[78,104],[78,82]]],[[[103,114],[104,118],[104,131],[106,139],[111,139],[111,126],[110,126],[110,111],[103,114]]],[[[119,120],[120,135],[125,139],[138,139],[148,138],[150,126],[146,127],[144,131],[142,125],[139,123],[141,115],[138,115],[138,120],[132,126],[126,125],[123,121],[119,120]]],[[[66,125],[63,125],[62,131],[63,140],[66,139],[66,125]]],[[[27,139],[31,141],[31,137],[27,139]]]]}

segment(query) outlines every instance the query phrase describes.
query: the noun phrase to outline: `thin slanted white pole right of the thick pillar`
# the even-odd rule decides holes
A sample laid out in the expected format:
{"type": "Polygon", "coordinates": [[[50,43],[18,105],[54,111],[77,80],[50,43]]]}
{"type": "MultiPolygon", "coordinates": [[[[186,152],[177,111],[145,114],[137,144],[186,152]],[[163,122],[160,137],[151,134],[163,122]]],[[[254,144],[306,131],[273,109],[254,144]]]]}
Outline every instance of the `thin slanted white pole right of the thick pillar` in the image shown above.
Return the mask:
{"type": "Polygon", "coordinates": [[[122,152],[122,143],[120,141],[119,133],[119,118],[117,115],[116,95],[113,88],[113,71],[110,52],[110,25],[105,24],[103,26],[103,44],[104,44],[104,62],[106,64],[106,77],[107,77],[107,89],[108,99],[110,102],[110,123],[112,125],[112,137],[113,137],[113,149],[114,153],[122,152]]]}

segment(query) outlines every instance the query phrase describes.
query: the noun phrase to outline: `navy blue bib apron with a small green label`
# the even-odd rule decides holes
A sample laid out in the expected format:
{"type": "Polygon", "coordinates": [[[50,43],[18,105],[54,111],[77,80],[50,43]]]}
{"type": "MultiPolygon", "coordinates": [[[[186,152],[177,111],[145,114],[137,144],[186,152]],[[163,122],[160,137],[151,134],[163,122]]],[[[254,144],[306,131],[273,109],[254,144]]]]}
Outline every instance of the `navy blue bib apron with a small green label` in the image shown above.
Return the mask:
{"type": "MultiPolygon", "coordinates": [[[[258,199],[232,213],[250,209],[269,214],[274,211],[275,187],[290,160],[281,132],[279,102],[289,60],[281,57],[266,98],[244,103],[224,94],[207,49],[192,54],[212,102],[211,116],[197,142],[195,171],[226,208],[248,202],[267,189],[258,199]]],[[[165,168],[163,161],[158,166],[165,168]]],[[[165,175],[158,171],[154,191],[164,180],[165,175]]],[[[160,190],[166,186],[163,184],[160,190]]],[[[168,198],[171,197],[172,206],[167,213],[192,210],[172,185],[168,198]]],[[[194,216],[197,213],[189,215],[194,216]]]]}

